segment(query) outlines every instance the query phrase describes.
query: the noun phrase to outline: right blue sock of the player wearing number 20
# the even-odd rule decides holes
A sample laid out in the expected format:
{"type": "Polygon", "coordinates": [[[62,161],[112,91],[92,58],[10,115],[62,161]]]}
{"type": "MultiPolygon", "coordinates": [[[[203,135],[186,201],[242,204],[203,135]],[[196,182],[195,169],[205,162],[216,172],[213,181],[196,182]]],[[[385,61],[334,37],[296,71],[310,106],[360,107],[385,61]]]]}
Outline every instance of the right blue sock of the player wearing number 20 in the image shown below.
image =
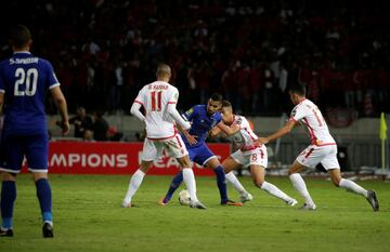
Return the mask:
{"type": "Polygon", "coordinates": [[[42,213],[42,221],[52,222],[52,196],[49,181],[47,178],[40,178],[36,182],[36,187],[42,213]]]}

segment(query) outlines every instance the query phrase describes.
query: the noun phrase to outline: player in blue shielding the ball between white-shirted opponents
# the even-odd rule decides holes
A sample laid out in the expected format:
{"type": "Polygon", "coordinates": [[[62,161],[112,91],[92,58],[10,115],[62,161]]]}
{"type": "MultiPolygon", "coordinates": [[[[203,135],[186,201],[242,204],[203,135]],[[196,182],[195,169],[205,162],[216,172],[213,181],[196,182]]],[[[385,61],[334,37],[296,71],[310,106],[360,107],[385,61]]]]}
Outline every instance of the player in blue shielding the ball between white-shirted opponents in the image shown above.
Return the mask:
{"type": "MultiPolygon", "coordinates": [[[[217,185],[223,205],[243,205],[227,198],[225,174],[216,155],[207,147],[206,138],[209,131],[218,123],[222,123],[220,109],[222,108],[222,95],[213,93],[207,105],[196,105],[183,114],[183,117],[192,122],[190,131],[183,131],[183,142],[188,150],[190,159],[199,165],[213,169],[217,175],[217,185]]],[[[182,172],[179,172],[172,180],[167,195],[159,200],[165,205],[172,198],[173,193],[183,182],[182,172]]]]}

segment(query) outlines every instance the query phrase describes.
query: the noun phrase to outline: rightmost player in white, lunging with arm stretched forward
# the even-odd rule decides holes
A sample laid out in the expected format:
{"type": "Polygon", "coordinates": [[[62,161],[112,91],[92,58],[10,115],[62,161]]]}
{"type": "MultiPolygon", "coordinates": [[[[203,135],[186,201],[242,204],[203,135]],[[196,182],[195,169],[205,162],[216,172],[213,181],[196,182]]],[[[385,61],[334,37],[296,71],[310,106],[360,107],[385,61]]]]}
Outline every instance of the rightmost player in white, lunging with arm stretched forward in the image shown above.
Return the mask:
{"type": "Polygon", "coordinates": [[[329,133],[328,127],[318,107],[306,97],[306,88],[301,84],[292,85],[289,89],[289,96],[294,105],[290,119],[286,124],[275,133],[259,137],[257,144],[266,144],[270,141],[288,134],[298,123],[303,124],[311,138],[311,144],[299,154],[292,165],[289,168],[288,174],[294,187],[304,199],[301,209],[315,210],[316,205],[310,197],[303,178],[299,174],[304,168],[315,168],[320,162],[327,170],[332,182],[337,187],[343,187],[348,191],[352,191],[365,197],[374,211],[379,210],[379,203],[374,190],[366,190],[350,180],[341,177],[340,165],[337,160],[337,144],[329,133]]]}

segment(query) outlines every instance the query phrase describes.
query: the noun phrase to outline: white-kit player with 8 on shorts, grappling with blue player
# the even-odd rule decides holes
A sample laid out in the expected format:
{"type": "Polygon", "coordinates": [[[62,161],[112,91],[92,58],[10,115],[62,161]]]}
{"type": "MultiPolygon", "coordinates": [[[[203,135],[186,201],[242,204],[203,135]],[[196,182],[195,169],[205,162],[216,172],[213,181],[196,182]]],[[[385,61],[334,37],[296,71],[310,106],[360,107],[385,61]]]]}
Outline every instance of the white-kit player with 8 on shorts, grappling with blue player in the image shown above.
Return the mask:
{"type": "Polygon", "coordinates": [[[253,133],[248,120],[243,116],[234,115],[232,104],[227,101],[222,102],[222,120],[224,123],[218,124],[212,134],[218,134],[219,131],[223,131],[232,137],[234,143],[240,146],[239,149],[222,162],[227,181],[232,183],[238,191],[246,193],[238,180],[230,174],[233,174],[232,171],[242,165],[249,167],[250,174],[257,187],[289,205],[296,205],[297,200],[264,180],[268,165],[266,148],[264,145],[260,147],[255,144],[258,136],[253,133]]]}

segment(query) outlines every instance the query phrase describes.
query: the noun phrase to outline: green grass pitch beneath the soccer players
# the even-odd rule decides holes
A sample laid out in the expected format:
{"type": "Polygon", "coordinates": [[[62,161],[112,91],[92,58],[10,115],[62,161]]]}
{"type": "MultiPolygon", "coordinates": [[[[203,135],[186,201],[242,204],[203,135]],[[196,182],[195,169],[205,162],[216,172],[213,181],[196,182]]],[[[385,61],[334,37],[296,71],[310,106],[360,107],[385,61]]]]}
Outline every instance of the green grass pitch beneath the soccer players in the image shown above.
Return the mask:
{"type": "MultiPolygon", "coordinates": [[[[367,201],[335,188],[326,180],[307,180],[316,211],[300,211],[240,181],[255,199],[244,207],[219,205],[213,177],[197,177],[206,211],[177,200],[156,204],[170,176],[146,176],[133,198],[138,208],[122,209],[129,176],[51,175],[54,239],[41,238],[35,186],[20,175],[13,238],[0,238],[0,251],[389,251],[390,184],[359,182],[377,191],[380,212],[367,201]]],[[[269,177],[301,199],[286,177],[269,177]]],[[[231,198],[238,195],[229,187],[231,198]]]]}

